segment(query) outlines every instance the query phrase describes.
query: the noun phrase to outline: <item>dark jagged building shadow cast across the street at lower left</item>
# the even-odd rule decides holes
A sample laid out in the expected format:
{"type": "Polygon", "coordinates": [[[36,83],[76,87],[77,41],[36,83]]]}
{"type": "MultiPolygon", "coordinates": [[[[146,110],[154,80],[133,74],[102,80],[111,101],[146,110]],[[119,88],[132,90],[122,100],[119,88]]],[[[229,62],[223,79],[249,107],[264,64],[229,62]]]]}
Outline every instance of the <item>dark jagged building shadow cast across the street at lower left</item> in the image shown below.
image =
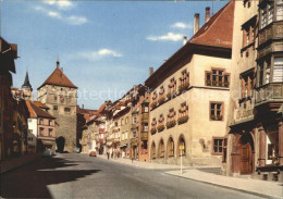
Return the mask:
{"type": "Polygon", "coordinates": [[[1,175],[0,196],[2,198],[52,198],[48,185],[74,182],[100,171],[67,169],[74,165],[78,165],[77,161],[52,157],[41,158],[38,162],[7,172],[1,175]],[[62,170],[64,167],[65,170],[62,170]]]}

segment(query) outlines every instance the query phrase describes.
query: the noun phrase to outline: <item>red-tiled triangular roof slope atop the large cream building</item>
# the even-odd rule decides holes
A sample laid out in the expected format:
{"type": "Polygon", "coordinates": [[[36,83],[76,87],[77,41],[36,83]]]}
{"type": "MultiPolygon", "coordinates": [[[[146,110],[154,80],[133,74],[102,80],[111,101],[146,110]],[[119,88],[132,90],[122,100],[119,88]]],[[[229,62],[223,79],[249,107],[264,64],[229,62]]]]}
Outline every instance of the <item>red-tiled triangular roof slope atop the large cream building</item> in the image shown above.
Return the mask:
{"type": "Polygon", "coordinates": [[[234,0],[218,11],[194,36],[189,42],[232,48],[234,0]]]}

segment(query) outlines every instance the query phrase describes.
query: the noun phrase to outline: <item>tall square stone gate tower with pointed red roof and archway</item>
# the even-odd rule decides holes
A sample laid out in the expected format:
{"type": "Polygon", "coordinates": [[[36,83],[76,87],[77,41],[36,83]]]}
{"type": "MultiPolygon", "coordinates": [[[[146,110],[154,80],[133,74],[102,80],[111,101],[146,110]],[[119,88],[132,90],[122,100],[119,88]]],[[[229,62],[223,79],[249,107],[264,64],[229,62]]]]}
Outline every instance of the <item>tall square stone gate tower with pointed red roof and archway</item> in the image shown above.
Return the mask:
{"type": "Polygon", "coordinates": [[[76,105],[77,87],[60,69],[59,61],[53,73],[37,89],[38,101],[49,108],[49,113],[56,117],[57,149],[72,152],[76,147],[76,105]]]}

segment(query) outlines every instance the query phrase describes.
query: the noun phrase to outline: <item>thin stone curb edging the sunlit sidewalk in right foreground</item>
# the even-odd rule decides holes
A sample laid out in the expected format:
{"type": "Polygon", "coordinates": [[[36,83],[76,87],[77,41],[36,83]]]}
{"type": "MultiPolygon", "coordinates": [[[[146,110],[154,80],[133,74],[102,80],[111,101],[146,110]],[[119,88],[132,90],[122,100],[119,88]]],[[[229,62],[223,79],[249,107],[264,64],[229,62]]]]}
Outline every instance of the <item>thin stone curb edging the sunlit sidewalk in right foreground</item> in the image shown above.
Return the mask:
{"type": "Polygon", "coordinates": [[[254,196],[258,196],[258,197],[264,197],[264,198],[269,198],[269,199],[282,199],[282,197],[258,194],[258,192],[254,192],[254,191],[250,191],[250,190],[244,190],[244,189],[239,189],[239,188],[229,187],[229,186],[225,186],[225,185],[218,185],[218,184],[213,184],[213,183],[209,183],[209,182],[205,182],[205,181],[199,181],[199,179],[194,179],[194,178],[189,178],[189,177],[185,177],[185,176],[174,175],[174,174],[171,174],[171,173],[168,173],[168,172],[164,172],[164,174],[175,176],[175,177],[185,178],[185,179],[190,179],[190,181],[195,181],[195,182],[199,182],[199,183],[204,183],[204,184],[208,184],[208,185],[212,185],[212,186],[217,186],[217,187],[221,187],[221,188],[236,190],[236,191],[241,191],[241,192],[245,192],[245,194],[249,194],[249,195],[254,195],[254,196]]]}

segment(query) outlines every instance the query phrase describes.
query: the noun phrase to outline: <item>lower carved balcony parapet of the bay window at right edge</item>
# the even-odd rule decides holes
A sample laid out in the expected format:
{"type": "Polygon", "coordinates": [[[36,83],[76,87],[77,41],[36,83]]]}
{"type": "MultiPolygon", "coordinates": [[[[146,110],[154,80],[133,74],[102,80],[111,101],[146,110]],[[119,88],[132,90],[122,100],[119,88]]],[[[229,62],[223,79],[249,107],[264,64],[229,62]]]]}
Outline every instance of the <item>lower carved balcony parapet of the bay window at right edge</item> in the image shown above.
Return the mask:
{"type": "Polygon", "coordinates": [[[283,100],[283,84],[271,83],[259,87],[256,90],[256,104],[268,101],[283,100]]]}

